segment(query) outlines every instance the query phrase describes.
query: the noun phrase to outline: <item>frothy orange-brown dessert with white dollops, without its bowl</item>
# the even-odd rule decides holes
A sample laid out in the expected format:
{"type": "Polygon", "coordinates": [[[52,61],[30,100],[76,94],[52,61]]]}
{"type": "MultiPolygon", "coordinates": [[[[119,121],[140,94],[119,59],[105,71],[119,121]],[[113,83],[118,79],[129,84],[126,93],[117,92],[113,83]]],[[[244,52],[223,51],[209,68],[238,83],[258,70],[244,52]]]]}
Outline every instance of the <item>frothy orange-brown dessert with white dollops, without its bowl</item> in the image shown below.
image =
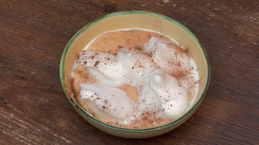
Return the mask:
{"type": "Polygon", "coordinates": [[[193,104],[199,74],[187,49],[146,29],[106,32],[75,60],[71,86],[95,118],[125,128],[168,123],[193,104]]]}

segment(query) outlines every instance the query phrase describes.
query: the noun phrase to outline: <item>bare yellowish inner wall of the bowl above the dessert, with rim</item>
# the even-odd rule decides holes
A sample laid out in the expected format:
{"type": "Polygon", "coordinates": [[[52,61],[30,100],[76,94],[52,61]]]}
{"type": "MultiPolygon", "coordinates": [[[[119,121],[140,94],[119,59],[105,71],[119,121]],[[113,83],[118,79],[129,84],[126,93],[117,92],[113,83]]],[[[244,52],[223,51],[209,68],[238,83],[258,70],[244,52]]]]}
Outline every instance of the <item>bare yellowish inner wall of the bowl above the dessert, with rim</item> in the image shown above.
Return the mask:
{"type": "MultiPolygon", "coordinates": [[[[189,48],[190,53],[197,65],[200,77],[200,87],[197,98],[194,101],[193,106],[180,118],[155,128],[163,128],[163,126],[177,124],[177,122],[180,122],[181,120],[184,120],[189,115],[191,115],[203,100],[210,80],[210,65],[205,49],[199,40],[193,35],[193,33],[177,21],[160,14],[146,11],[124,11],[111,13],[92,21],[80,29],[68,42],[60,63],[60,78],[66,96],[70,98],[71,103],[77,104],[73,98],[73,92],[71,91],[70,75],[74,60],[78,57],[80,51],[92,39],[106,31],[127,28],[143,28],[157,31],[172,37],[183,47],[189,48]]],[[[82,111],[82,108],[79,111],[82,111]]],[[[97,120],[95,118],[91,119],[97,120]]],[[[104,122],[99,120],[98,122],[107,126],[107,124],[104,122]]],[[[116,126],[115,128],[119,127],[116,126]]]]}

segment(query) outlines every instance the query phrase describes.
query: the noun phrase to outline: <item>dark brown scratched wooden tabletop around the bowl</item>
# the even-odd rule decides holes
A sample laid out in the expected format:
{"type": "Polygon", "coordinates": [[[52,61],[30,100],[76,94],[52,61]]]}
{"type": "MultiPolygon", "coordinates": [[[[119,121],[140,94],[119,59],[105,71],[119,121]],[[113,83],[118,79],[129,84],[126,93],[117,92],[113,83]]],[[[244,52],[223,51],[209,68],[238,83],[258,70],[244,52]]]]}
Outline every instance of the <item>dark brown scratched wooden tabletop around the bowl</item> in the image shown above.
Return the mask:
{"type": "Polygon", "coordinates": [[[0,0],[0,144],[258,144],[259,1],[0,0]],[[116,11],[160,13],[203,43],[211,81],[197,112],[154,138],[125,139],[88,124],[62,90],[66,43],[116,11]]]}

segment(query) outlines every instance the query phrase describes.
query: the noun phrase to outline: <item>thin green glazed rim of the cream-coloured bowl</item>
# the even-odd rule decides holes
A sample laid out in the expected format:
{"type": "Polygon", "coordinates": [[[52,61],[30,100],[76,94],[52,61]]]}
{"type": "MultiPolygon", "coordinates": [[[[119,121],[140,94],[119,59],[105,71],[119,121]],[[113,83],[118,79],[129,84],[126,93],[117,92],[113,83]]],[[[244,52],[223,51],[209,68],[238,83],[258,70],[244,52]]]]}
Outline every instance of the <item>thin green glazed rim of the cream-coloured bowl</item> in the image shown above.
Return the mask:
{"type": "Polygon", "coordinates": [[[63,51],[63,54],[62,54],[62,57],[61,57],[61,60],[60,60],[60,80],[61,80],[61,84],[62,84],[62,88],[65,92],[65,95],[66,97],[68,98],[69,102],[72,104],[72,106],[74,108],[76,108],[78,110],[78,112],[85,116],[86,118],[88,118],[89,120],[93,121],[94,123],[96,124],[99,124],[101,126],[104,126],[106,128],[110,128],[110,129],[113,129],[113,130],[117,130],[117,131],[122,131],[122,132],[138,132],[138,133],[146,133],[146,132],[154,132],[154,131],[158,131],[158,130],[163,130],[165,128],[169,128],[169,127],[172,127],[180,122],[182,122],[183,120],[185,120],[186,118],[188,118],[191,114],[193,114],[193,112],[195,112],[195,110],[197,110],[197,108],[199,107],[199,105],[201,104],[201,102],[203,101],[204,99],[204,96],[207,92],[207,89],[208,89],[208,86],[209,86],[209,83],[210,83],[210,73],[211,73],[211,70],[210,70],[210,61],[209,61],[209,58],[208,58],[208,55],[207,55],[207,52],[205,50],[205,48],[203,47],[203,45],[201,44],[201,42],[197,39],[197,37],[187,28],[185,27],[184,25],[182,25],[181,23],[179,23],[178,21],[174,20],[174,19],[171,19],[167,16],[164,16],[164,15],[161,15],[161,14],[158,14],[158,13],[153,13],[153,12],[149,12],[149,11],[120,11],[120,12],[115,12],[115,13],[110,13],[110,14],[107,14],[107,15],[104,15],[102,17],[99,17],[93,21],[91,21],[90,23],[88,23],[87,25],[85,25],[83,28],[81,28],[71,39],[70,41],[67,43],[64,51],[63,51]],[[205,86],[204,86],[204,90],[203,90],[203,93],[201,94],[201,97],[199,98],[199,100],[193,105],[192,108],[190,108],[187,112],[185,112],[182,116],[180,116],[179,118],[177,118],[176,120],[173,120],[171,122],[168,122],[166,124],[163,124],[163,125],[159,125],[159,126],[155,126],[155,127],[151,127],[151,128],[142,128],[142,129],[135,129],[135,128],[122,128],[122,127],[118,127],[118,126],[114,126],[114,125],[111,125],[111,124],[108,124],[108,123],[105,123],[105,122],[102,122],[100,120],[98,120],[97,118],[94,118],[91,114],[88,114],[81,106],[79,105],[75,105],[74,102],[75,100],[73,100],[72,98],[69,98],[68,95],[66,94],[66,90],[67,88],[64,87],[64,61],[65,61],[65,58],[66,58],[66,53],[70,47],[70,45],[73,43],[74,39],[81,33],[83,32],[85,29],[87,29],[88,27],[90,27],[91,25],[93,25],[94,23],[97,23],[98,21],[101,21],[102,19],[105,19],[105,18],[108,18],[108,17],[111,17],[111,16],[115,16],[115,15],[122,15],[122,14],[146,14],[146,15],[153,15],[153,16],[156,16],[156,17],[160,17],[162,19],[166,19],[168,21],[171,21],[177,25],[179,25],[182,29],[184,29],[186,32],[188,32],[192,37],[193,39],[195,39],[195,41],[200,45],[201,49],[203,50],[203,54],[204,54],[204,57],[206,59],[206,62],[207,62],[207,80],[206,80],[206,83],[205,83],[205,86]]]}

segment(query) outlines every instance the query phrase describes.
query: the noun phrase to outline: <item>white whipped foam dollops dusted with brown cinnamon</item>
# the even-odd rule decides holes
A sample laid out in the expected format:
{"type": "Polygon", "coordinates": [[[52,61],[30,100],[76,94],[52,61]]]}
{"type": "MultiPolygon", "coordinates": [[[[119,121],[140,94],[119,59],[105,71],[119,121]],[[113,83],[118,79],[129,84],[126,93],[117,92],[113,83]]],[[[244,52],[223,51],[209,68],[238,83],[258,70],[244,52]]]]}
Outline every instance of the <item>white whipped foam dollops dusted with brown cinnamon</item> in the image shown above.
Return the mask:
{"type": "Polygon", "coordinates": [[[193,104],[199,84],[196,84],[195,96],[190,101],[188,82],[178,82],[171,73],[193,67],[191,76],[194,81],[199,80],[199,74],[194,60],[185,53],[179,54],[168,43],[165,39],[151,37],[142,51],[124,47],[117,55],[99,51],[81,52],[72,72],[80,64],[100,83],[79,84],[81,99],[94,113],[122,124],[140,118],[145,112],[153,113],[157,118],[178,118],[193,104]],[[145,54],[151,52],[151,57],[145,54]],[[172,62],[180,63],[180,67],[172,62]],[[138,88],[137,100],[133,101],[123,90],[115,88],[123,84],[138,88]]]}

